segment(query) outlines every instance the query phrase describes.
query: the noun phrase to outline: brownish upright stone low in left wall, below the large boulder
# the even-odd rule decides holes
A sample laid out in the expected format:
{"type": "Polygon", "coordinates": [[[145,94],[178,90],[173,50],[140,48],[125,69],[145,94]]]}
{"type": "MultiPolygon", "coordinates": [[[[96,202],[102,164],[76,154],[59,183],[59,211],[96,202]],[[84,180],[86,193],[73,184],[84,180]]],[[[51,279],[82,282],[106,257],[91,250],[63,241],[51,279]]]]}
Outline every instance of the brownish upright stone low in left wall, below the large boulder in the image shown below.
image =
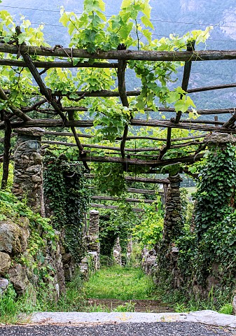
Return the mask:
{"type": "Polygon", "coordinates": [[[9,280],[13,283],[13,287],[18,294],[25,293],[27,286],[29,285],[29,279],[27,278],[26,267],[20,264],[11,267],[8,270],[9,280]]]}

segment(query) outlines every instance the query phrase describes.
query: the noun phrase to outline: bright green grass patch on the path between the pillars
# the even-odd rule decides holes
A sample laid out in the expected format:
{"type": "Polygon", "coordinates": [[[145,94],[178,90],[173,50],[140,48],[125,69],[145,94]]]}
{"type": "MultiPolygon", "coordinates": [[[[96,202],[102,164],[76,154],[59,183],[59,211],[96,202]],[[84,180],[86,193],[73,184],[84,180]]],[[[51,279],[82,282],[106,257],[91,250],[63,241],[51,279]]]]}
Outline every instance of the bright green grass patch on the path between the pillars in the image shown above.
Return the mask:
{"type": "Polygon", "coordinates": [[[87,297],[97,299],[148,300],[153,281],[139,268],[102,267],[85,284],[87,297]]]}

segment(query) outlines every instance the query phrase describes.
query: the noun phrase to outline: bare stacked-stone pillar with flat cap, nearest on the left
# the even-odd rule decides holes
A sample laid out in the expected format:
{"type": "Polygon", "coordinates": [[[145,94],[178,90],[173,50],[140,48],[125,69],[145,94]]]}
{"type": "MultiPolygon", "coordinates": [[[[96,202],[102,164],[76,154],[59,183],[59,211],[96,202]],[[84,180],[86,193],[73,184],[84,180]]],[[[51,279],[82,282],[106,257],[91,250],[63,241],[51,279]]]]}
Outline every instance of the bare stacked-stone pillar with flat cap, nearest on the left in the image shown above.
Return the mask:
{"type": "Polygon", "coordinates": [[[15,130],[18,141],[14,154],[13,193],[19,198],[27,198],[27,204],[44,216],[43,163],[41,157],[40,128],[15,130]]]}

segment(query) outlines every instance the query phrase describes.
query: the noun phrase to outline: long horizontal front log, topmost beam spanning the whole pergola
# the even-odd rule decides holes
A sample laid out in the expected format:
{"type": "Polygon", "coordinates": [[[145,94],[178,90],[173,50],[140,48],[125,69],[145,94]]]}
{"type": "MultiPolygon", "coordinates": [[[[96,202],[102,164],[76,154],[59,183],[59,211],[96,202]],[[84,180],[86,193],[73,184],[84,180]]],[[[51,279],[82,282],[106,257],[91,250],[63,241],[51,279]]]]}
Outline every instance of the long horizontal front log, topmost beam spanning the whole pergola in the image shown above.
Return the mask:
{"type": "MultiPolygon", "coordinates": [[[[16,45],[0,43],[0,52],[17,55],[19,50],[16,45]]],[[[217,61],[220,59],[236,59],[236,50],[197,50],[197,51],[153,51],[153,50],[98,50],[90,54],[88,51],[76,48],[46,48],[35,46],[22,46],[20,54],[90,58],[90,59],[136,59],[146,61],[217,61]]]]}

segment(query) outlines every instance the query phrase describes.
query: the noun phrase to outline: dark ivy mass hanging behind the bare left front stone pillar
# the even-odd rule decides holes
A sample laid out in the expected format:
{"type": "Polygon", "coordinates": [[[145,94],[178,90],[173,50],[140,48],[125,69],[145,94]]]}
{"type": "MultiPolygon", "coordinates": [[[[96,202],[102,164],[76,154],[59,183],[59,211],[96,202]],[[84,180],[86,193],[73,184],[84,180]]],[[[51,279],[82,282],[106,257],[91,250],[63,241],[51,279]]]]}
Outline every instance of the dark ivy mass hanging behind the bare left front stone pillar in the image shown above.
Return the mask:
{"type": "Polygon", "coordinates": [[[53,227],[64,231],[67,251],[78,262],[85,253],[83,217],[89,201],[84,170],[71,167],[67,160],[52,153],[46,155],[45,165],[44,190],[48,207],[53,211],[53,227]]]}

